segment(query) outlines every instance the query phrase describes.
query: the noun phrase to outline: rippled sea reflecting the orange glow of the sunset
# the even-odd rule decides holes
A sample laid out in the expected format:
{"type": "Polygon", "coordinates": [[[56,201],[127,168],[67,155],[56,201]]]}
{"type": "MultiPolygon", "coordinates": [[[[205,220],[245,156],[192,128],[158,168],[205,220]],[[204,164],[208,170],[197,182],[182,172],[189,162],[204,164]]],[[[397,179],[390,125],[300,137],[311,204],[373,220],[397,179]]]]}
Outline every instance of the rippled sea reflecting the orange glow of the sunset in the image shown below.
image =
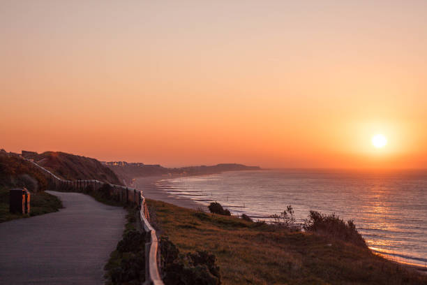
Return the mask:
{"type": "Polygon", "coordinates": [[[232,214],[271,220],[292,205],[354,220],[368,247],[401,263],[427,267],[427,170],[256,170],[177,177],[156,182],[171,195],[232,214]]]}

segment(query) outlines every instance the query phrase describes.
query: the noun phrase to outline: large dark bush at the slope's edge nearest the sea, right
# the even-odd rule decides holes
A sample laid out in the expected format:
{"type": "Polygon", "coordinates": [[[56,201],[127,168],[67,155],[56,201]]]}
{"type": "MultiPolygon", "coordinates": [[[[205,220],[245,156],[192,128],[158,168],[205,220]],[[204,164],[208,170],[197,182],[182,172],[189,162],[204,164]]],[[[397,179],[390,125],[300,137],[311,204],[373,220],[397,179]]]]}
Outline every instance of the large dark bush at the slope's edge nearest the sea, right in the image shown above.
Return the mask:
{"type": "Polygon", "coordinates": [[[320,212],[310,211],[308,219],[304,220],[303,228],[305,231],[326,235],[331,238],[351,242],[360,247],[367,247],[364,238],[357,231],[352,220],[340,219],[334,214],[321,214],[320,212]]]}

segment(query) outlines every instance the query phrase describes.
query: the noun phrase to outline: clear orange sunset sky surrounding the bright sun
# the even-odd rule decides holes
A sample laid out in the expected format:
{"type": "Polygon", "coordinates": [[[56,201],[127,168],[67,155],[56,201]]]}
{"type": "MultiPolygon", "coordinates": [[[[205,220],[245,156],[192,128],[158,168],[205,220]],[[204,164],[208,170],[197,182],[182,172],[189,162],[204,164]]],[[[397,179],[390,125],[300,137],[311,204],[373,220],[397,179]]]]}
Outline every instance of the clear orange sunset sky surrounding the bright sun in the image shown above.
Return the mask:
{"type": "Polygon", "coordinates": [[[415,0],[0,0],[0,147],[426,168],[426,13],[415,0]]]}

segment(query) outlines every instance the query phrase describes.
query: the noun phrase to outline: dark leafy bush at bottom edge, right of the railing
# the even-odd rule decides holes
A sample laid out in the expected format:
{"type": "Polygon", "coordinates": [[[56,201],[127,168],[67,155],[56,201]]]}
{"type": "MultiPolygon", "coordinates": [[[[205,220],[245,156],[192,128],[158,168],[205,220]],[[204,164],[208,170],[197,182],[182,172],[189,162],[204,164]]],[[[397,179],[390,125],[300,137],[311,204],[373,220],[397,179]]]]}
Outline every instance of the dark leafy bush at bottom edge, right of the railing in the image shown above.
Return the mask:
{"type": "Polygon", "coordinates": [[[160,238],[160,263],[166,285],[221,284],[213,254],[207,251],[179,254],[179,249],[167,237],[160,238]]]}

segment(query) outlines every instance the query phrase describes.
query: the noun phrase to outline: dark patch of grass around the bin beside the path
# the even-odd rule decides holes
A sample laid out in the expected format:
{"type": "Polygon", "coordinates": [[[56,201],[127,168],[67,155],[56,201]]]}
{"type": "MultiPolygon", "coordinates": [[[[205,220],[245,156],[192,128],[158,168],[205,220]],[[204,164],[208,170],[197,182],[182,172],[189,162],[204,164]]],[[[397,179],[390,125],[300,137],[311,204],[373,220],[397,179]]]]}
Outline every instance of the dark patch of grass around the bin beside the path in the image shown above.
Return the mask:
{"type": "Polygon", "coordinates": [[[61,209],[62,203],[56,196],[45,191],[31,193],[30,214],[12,214],[9,212],[9,187],[0,187],[0,223],[12,219],[20,219],[57,212],[61,209]]]}

